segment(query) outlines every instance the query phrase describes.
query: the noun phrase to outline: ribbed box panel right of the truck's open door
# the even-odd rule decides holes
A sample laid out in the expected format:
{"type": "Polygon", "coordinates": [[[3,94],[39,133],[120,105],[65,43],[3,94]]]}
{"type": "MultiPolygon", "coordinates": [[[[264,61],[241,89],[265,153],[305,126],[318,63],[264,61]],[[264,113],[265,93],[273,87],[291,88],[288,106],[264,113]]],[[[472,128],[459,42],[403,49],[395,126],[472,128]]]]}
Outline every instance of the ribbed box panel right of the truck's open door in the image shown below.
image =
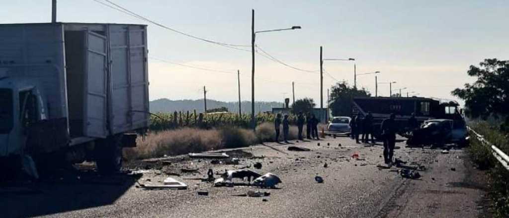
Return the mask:
{"type": "Polygon", "coordinates": [[[147,27],[109,24],[110,129],[112,134],[149,125],[147,27]]]}

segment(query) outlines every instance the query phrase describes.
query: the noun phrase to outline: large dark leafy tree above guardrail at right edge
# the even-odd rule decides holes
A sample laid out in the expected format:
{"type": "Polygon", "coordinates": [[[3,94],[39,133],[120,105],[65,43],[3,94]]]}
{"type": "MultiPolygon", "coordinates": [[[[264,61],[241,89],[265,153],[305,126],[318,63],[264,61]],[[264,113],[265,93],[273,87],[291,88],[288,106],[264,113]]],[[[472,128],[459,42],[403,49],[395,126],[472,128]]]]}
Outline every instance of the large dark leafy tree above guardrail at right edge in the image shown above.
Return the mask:
{"type": "MultiPolygon", "coordinates": [[[[479,67],[471,65],[468,76],[477,77],[465,88],[457,88],[451,93],[465,100],[465,113],[471,118],[487,119],[509,115],[509,62],[485,59],[479,67]]],[[[507,119],[506,119],[507,123],[507,119]]]]}

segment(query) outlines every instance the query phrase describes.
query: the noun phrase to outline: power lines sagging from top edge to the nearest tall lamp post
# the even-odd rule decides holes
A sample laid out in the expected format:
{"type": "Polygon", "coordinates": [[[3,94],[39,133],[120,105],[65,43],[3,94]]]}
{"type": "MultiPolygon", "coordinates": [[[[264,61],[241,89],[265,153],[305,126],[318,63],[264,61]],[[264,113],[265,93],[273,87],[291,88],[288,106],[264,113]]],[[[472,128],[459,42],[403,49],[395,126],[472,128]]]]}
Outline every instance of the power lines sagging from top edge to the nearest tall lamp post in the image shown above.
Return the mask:
{"type": "Polygon", "coordinates": [[[216,41],[212,41],[212,40],[207,40],[207,39],[204,39],[204,38],[200,38],[200,37],[196,37],[194,35],[191,35],[191,34],[188,34],[188,33],[185,33],[185,32],[182,32],[182,31],[179,31],[179,30],[176,30],[174,28],[171,28],[171,27],[167,27],[163,24],[160,24],[160,23],[157,23],[153,20],[150,20],[142,15],[139,15],[139,14],[136,14],[118,4],[115,4],[114,2],[111,2],[110,0],[103,0],[103,1],[106,1],[107,3],[109,3],[110,5],[104,3],[104,2],[101,2],[99,0],[93,0],[94,2],[97,2],[99,4],[102,4],[104,6],[107,6],[109,8],[112,8],[112,9],[115,9],[117,11],[120,11],[122,13],[125,13],[127,15],[130,15],[130,16],[133,16],[135,18],[138,18],[138,19],[142,19],[142,20],[145,20],[149,23],[152,23],[154,25],[157,25],[157,26],[160,26],[162,28],[165,28],[167,30],[170,30],[170,31],[173,31],[173,32],[177,32],[179,34],[182,34],[182,35],[185,35],[186,37],[190,37],[190,38],[193,38],[195,40],[200,40],[200,41],[204,41],[204,42],[207,42],[207,43],[212,43],[212,44],[215,44],[215,45],[220,45],[220,46],[224,46],[224,47],[228,47],[228,48],[233,48],[233,49],[237,49],[237,50],[243,50],[243,51],[249,51],[249,50],[245,50],[245,49],[239,49],[239,48],[235,48],[235,47],[249,47],[249,45],[235,45],[235,44],[228,44],[228,43],[220,43],[220,42],[216,42],[216,41]],[[111,6],[113,5],[113,6],[111,6]],[[115,6],[115,7],[114,7],[115,6]]]}

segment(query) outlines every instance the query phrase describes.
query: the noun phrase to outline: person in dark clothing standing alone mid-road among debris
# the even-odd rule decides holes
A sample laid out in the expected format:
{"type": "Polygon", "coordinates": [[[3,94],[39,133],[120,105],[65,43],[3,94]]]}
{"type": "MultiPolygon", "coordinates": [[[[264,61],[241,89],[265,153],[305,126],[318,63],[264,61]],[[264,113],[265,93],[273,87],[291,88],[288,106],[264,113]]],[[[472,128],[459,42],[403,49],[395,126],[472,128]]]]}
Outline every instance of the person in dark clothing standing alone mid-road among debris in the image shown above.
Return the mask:
{"type": "Polygon", "coordinates": [[[394,146],[396,142],[397,126],[394,121],[395,115],[391,114],[388,119],[382,122],[381,130],[383,137],[383,158],[386,164],[392,165],[394,146]]]}

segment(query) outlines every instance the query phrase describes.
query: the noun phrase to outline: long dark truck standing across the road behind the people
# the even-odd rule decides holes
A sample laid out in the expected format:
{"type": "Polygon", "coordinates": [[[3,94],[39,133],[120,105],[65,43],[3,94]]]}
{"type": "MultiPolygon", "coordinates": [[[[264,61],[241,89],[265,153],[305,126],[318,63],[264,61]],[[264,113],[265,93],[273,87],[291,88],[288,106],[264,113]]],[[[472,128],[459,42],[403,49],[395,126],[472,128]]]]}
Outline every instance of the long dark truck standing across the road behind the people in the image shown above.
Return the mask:
{"type": "MultiPolygon", "coordinates": [[[[450,119],[458,122],[463,117],[458,110],[459,104],[454,101],[443,102],[433,98],[423,97],[356,97],[353,98],[352,117],[365,117],[371,112],[373,115],[373,129],[375,137],[380,136],[380,126],[390,114],[396,116],[400,135],[406,136],[409,131],[408,120],[412,113],[421,124],[430,119],[450,119]]],[[[463,121],[464,123],[464,121],[463,121]]]]}

